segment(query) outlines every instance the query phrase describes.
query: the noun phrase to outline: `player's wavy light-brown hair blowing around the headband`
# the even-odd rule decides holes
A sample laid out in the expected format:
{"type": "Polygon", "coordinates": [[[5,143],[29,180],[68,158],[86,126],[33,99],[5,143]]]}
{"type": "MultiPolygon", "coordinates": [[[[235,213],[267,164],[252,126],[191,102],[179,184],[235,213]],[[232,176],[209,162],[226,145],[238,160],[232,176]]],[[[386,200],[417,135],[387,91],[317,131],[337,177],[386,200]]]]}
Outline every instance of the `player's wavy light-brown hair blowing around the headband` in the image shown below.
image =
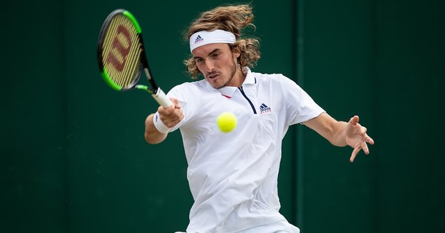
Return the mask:
{"type": "MultiPolygon", "coordinates": [[[[256,38],[241,38],[243,28],[252,27],[255,29],[253,21],[252,7],[248,4],[236,6],[218,6],[213,10],[203,12],[200,17],[195,19],[188,31],[184,33],[184,40],[188,42],[191,35],[198,31],[213,31],[220,29],[229,31],[236,37],[234,44],[229,44],[232,52],[240,52],[238,64],[241,67],[254,67],[260,58],[259,40],[256,38]]],[[[184,60],[188,74],[192,79],[197,79],[201,71],[197,68],[193,57],[184,60]]]]}

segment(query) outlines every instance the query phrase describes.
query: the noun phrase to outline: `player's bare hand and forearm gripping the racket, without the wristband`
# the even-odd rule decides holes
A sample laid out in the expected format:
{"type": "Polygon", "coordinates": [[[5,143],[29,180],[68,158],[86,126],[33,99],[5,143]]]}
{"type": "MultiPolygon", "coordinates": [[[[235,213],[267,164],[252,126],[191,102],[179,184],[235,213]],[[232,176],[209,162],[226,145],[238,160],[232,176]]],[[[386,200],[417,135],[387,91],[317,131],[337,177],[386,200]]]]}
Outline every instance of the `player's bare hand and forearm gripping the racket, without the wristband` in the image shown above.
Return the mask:
{"type": "MultiPolygon", "coordinates": [[[[168,128],[172,128],[177,125],[182,119],[184,119],[184,112],[181,110],[181,105],[175,98],[171,98],[172,105],[170,107],[158,107],[159,117],[161,121],[168,128]]],[[[147,119],[145,119],[145,141],[148,144],[159,144],[165,138],[167,138],[168,133],[159,132],[153,123],[154,114],[149,114],[147,119]]]]}

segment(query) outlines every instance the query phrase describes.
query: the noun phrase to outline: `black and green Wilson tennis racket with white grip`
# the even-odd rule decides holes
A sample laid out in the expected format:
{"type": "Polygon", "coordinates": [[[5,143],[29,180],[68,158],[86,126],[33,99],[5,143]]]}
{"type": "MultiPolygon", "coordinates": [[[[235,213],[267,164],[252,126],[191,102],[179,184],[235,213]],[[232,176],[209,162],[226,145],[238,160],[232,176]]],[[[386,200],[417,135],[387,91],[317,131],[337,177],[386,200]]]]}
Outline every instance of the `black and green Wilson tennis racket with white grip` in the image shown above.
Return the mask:
{"type": "Polygon", "coordinates": [[[99,70],[111,88],[118,91],[143,89],[160,105],[169,107],[172,102],[156,85],[148,67],[141,33],[138,21],[129,11],[111,12],[102,25],[97,42],[99,70]],[[143,72],[150,87],[138,84],[143,72]]]}

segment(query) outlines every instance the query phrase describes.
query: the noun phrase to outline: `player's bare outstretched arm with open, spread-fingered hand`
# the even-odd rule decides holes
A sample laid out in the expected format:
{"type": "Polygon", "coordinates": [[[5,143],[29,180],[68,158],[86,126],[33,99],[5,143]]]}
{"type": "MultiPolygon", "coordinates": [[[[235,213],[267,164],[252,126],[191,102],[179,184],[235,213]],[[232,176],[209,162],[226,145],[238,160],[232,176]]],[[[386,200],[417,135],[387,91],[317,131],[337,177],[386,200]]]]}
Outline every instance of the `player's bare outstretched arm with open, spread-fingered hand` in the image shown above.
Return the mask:
{"type": "Polygon", "coordinates": [[[350,162],[360,150],[369,154],[368,144],[373,145],[374,140],[366,134],[366,128],[359,123],[359,116],[353,116],[348,122],[337,121],[329,114],[323,112],[319,116],[305,121],[302,124],[315,130],[334,146],[350,146],[354,148],[350,162]]]}

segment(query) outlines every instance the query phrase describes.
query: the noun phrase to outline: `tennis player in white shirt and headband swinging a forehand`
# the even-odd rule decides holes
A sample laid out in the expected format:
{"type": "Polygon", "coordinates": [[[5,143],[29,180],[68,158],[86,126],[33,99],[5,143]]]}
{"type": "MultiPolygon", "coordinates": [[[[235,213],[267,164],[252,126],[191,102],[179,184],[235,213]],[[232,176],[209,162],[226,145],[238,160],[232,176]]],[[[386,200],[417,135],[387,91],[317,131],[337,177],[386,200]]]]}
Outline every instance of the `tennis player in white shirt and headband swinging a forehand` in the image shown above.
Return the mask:
{"type": "Polygon", "coordinates": [[[220,6],[202,13],[188,28],[193,78],[172,88],[174,103],[145,121],[145,139],[159,144],[181,131],[193,199],[187,232],[300,232],[280,214],[277,177],[282,139],[302,123],[335,146],[351,146],[350,161],[374,141],[358,116],[337,121],[293,80],[251,71],[260,58],[259,42],[241,37],[253,26],[250,5],[220,6]],[[216,119],[232,112],[238,125],[218,130],[216,119]]]}

